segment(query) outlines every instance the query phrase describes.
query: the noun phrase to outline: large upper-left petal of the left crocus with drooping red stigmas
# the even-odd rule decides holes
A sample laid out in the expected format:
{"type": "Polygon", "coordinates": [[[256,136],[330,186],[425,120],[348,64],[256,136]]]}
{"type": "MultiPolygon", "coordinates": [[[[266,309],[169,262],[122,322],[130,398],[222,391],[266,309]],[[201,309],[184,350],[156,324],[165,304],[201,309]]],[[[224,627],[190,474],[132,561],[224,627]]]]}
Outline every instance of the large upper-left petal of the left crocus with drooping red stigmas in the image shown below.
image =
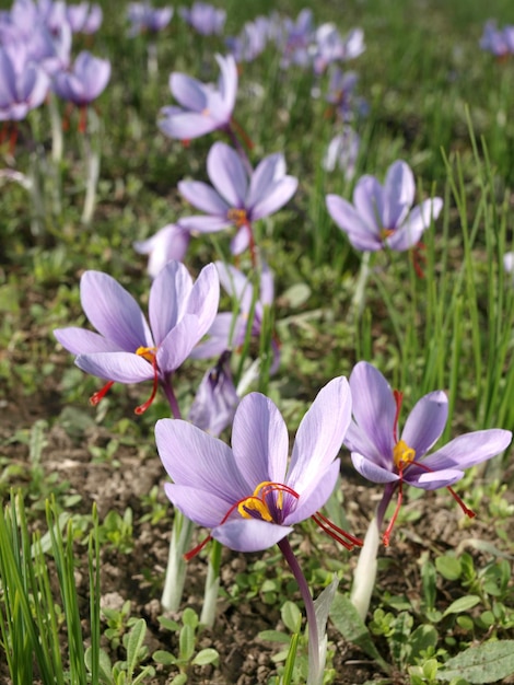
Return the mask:
{"type": "Polygon", "coordinates": [[[85,315],[106,338],[127,352],[153,340],[139,304],[114,278],[101,271],[85,271],[80,282],[80,297],[85,315]]]}

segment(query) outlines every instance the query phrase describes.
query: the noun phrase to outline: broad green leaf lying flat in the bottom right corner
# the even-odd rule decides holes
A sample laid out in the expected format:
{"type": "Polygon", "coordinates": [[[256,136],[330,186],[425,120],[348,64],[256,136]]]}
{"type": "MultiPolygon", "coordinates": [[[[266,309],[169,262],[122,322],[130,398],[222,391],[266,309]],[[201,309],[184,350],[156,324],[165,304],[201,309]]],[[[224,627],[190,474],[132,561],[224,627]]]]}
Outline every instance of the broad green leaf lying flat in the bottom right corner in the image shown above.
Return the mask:
{"type": "Polygon", "coordinates": [[[514,640],[470,647],[449,659],[437,672],[439,681],[464,678],[467,683],[495,683],[514,674],[514,640]]]}

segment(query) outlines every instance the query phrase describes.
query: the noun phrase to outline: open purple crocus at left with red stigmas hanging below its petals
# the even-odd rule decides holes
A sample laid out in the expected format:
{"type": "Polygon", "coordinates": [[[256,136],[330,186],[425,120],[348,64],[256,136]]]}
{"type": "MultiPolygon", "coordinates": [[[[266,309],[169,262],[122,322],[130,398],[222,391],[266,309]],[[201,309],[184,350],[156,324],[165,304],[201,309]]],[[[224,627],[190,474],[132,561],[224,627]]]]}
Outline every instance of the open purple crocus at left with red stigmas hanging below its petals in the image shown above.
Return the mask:
{"type": "Polygon", "coordinates": [[[75,364],[80,369],[109,379],[93,395],[93,404],[114,382],[152,380],[150,399],[136,409],[142,414],[152,403],[159,383],[171,400],[171,376],[211,326],[220,288],[214,265],[206,266],[194,283],[183,264],[170,262],[150,289],[150,326],[132,295],[107,274],[85,271],[80,294],[85,315],[98,333],[71,327],[58,328],[54,335],[62,347],[78,355],[75,364]]]}

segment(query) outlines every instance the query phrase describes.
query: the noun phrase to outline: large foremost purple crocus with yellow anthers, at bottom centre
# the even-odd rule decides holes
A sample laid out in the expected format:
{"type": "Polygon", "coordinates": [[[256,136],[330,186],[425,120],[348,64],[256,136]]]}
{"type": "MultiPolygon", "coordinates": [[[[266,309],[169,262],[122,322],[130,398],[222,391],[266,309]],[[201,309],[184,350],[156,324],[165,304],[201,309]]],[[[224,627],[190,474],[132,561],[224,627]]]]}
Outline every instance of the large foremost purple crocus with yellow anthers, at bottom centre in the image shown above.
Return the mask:
{"type": "Polygon", "coordinates": [[[173,480],[165,485],[166,495],[188,519],[211,529],[207,539],[237,552],[266,549],[311,516],[347,547],[359,545],[318,512],[337,481],[336,456],[350,414],[348,381],[334,379],[305,414],[289,463],[285,422],[260,393],[241,400],[232,449],[191,423],[161,419],[157,450],[173,480]]]}

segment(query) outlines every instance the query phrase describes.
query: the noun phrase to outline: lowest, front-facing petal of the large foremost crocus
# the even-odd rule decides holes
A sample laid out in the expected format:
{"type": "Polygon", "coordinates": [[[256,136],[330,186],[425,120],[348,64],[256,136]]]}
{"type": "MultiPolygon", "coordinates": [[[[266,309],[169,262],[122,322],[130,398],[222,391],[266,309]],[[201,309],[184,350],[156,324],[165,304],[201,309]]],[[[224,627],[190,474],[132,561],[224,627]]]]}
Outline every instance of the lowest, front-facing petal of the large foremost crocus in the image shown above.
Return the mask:
{"type": "Polygon", "coordinates": [[[235,552],[261,552],[292,533],[293,529],[257,519],[229,521],[211,531],[214,539],[235,552]]]}

